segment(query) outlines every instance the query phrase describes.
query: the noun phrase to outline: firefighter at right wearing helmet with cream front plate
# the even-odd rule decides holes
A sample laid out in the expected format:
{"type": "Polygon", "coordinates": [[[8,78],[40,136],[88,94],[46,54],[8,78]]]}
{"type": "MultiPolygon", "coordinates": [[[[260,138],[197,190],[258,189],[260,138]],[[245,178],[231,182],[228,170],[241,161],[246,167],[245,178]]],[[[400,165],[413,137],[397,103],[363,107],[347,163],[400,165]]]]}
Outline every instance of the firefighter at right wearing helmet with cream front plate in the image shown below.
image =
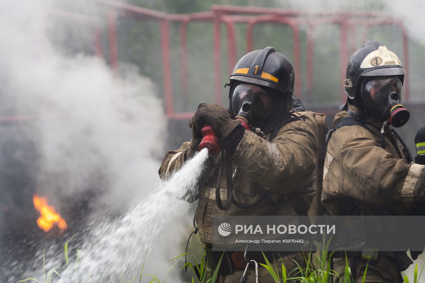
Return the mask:
{"type": "MultiPolygon", "coordinates": [[[[424,204],[425,166],[413,164],[394,130],[410,116],[401,103],[405,74],[397,55],[380,42],[366,42],[351,56],[348,99],[334,118],[323,170],[321,200],[331,215],[411,215],[424,204]]],[[[354,282],[361,282],[367,258],[365,282],[402,282],[400,271],[412,263],[405,252],[369,257],[364,251],[348,252],[354,282]]],[[[335,255],[334,270],[343,276],[345,252],[335,255]]]]}

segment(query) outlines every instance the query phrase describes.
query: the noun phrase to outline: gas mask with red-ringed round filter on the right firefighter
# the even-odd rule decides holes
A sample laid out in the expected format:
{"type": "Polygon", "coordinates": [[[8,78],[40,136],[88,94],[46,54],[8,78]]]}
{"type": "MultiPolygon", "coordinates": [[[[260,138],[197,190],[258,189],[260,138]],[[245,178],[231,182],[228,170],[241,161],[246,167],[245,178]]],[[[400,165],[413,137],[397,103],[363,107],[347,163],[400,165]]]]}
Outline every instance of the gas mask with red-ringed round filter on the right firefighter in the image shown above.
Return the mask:
{"type": "Polygon", "coordinates": [[[398,77],[374,77],[363,82],[361,98],[366,110],[393,127],[401,127],[410,118],[409,111],[401,104],[403,85],[398,77]]]}

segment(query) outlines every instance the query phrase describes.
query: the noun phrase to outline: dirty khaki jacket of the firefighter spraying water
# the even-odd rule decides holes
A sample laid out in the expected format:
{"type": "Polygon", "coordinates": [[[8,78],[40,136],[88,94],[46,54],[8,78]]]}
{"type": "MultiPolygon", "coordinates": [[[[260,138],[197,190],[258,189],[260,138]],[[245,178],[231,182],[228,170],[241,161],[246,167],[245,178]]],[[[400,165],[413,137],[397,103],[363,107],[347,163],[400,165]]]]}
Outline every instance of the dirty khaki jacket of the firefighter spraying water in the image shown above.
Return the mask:
{"type": "MultiPolygon", "coordinates": [[[[232,172],[235,165],[241,169],[233,186],[233,197],[237,201],[250,204],[258,199],[262,190],[267,190],[283,195],[298,192],[311,205],[316,195],[317,122],[312,113],[295,114],[301,121],[290,122],[281,127],[271,142],[270,135],[263,139],[245,130],[231,158],[232,172]]],[[[173,170],[178,170],[184,164],[186,150],[190,150],[190,142],[184,142],[178,150],[167,152],[159,169],[161,179],[164,180],[173,170]]],[[[221,153],[213,158],[219,162],[221,153]]],[[[227,198],[227,176],[226,158],[223,159],[220,196],[224,204],[227,198]]],[[[201,187],[196,209],[199,235],[206,248],[212,245],[212,216],[296,215],[287,196],[278,204],[266,204],[263,200],[251,209],[241,209],[231,204],[228,210],[221,210],[215,200],[217,178],[218,173],[212,174],[210,182],[201,187]]]]}

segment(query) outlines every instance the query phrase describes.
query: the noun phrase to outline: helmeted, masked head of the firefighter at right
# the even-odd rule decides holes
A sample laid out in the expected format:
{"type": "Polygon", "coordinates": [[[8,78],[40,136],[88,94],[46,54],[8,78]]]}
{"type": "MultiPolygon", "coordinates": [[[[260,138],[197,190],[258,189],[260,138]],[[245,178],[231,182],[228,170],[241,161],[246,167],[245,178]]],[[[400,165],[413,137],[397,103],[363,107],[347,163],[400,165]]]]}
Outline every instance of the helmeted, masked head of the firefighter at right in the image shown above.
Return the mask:
{"type": "Polygon", "coordinates": [[[344,88],[348,102],[362,109],[366,117],[401,127],[410,117],[401,104],[405,74],[393,51],[380,42],[366,42],[347,65],[344,88]]]}

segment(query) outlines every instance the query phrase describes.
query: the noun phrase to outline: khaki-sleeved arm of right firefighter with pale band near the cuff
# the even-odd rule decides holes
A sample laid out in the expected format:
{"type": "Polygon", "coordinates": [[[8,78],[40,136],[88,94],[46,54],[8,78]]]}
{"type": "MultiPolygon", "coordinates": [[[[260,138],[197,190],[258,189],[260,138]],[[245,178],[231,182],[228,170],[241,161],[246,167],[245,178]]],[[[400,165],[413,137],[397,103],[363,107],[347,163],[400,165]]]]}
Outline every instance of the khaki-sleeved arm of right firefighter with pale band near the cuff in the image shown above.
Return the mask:
{"type": "Polygon", "coordinates": [[[357,128],[343,138],[341,135],[348,131],[338,130],[334,133],[336,139],[331,139],[343,141],[333,158],[339,159],[343,173],[357,181],[352,188],[342,186],[342,195],[377,205],[425,204],[425,166],[393,158],[366,129],[357,128]]]}

